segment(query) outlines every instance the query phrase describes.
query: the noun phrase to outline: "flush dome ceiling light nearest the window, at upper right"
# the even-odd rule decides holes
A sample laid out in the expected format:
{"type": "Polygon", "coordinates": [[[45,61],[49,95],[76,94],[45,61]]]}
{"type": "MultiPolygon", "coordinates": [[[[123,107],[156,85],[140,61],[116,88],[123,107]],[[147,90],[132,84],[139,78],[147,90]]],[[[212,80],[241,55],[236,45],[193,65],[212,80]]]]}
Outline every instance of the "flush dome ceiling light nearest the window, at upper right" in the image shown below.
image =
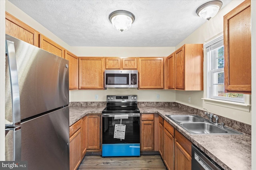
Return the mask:
{"type": "Polygon", "coordinates": [[[210,20],[218,13],[221,7],[222,2],[220,0],[206,2],[205,4],[197,8],[196,14],[203,19],[210,20]]]}

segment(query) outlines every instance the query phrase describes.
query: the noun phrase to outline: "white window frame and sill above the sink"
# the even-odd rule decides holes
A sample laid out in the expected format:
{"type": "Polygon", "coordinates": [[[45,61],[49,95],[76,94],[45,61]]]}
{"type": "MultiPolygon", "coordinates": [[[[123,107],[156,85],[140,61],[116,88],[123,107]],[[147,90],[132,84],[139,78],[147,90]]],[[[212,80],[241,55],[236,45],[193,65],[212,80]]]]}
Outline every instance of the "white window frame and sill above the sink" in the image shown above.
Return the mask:
{"type": "Polygon", "coordinates": [[[216,72],[224,72],[224,68],[218,68],[212,70],[212,51],[213,49],[217,49],[219,47],[222,47],[223,44],[223,33],[216,36],[211,41],[204,44],[204,49],[206,49],[206,62],[207,62],[207,98],[208,99],[215,99],[215,100],[224,100],[229,102],[239,102],[242,104],[245,104],[247,102],[246,98],[248,96],[244,95],[242,99],[238,98],[228,98],[228,97],[221,97],[221,96],[215,96],[214,95],[214,86],[213,86],[213,76],[216,72]]]}

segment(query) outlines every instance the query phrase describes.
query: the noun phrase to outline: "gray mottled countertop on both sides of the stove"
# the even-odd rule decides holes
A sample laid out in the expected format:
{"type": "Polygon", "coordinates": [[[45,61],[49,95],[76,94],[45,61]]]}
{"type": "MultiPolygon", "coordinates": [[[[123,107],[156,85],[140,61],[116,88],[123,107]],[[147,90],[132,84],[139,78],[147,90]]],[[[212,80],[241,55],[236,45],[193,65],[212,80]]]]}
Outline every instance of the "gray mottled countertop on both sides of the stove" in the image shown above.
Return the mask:
{"type": "MultiPolygon", "coordinates": [[[[250,135],[191,135],[165,115],[191,114],[175,106],[138,106],[140,113],[158,113],[182,135],[226,170],[251,169],[250,135]]],[[[71,106],[70,125],[89,113],[102,113],[105,106],[71,106]]]]}

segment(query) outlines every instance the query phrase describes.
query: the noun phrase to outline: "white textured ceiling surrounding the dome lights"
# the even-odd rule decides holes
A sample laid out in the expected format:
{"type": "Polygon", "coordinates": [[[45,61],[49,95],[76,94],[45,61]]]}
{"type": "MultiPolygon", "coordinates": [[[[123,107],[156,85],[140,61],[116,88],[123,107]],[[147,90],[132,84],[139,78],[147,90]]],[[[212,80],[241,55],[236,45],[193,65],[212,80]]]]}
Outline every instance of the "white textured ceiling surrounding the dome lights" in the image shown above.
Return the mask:
{"type": "MultiPolygon", "coordinates": [[[[70,46],[173,47],[206,20],[196,9],[209,0],[10,0],[70,46]],[[126,32],[112,27],[111,12],[127,10],[126,32]]],[[[223,6],[231,0],[222,0],[223,6]]],[[[223,8],[222,6],[222,8],[223,8]]]]}

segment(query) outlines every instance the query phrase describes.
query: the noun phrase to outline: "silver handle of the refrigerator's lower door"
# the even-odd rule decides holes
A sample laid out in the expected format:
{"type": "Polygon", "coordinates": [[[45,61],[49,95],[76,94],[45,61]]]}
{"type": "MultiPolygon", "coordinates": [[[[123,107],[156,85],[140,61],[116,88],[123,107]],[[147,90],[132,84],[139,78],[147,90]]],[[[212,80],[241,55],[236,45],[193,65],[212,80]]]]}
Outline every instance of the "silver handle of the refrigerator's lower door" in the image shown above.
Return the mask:
{"type": "MultiPolygon", "coordinates": [[[[21,127],[6,128],[5,131],[12,131],[12,156],[6,158],[9,161],[21,160],[21,127]]],[[[6,143],[7,144],[7,143],[6,143]]]]}

